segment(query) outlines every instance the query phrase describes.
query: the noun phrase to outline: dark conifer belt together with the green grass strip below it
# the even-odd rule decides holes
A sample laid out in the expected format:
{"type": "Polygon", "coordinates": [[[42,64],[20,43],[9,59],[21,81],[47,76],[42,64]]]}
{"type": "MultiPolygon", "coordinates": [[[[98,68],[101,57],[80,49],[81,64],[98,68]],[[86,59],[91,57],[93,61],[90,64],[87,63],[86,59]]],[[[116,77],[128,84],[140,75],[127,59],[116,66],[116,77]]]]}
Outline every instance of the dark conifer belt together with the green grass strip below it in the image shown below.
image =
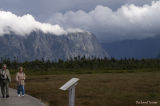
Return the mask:
{"type": "Polygon", "coordinates": [[[91,74],[91,73],[122,73],[139,71],[159,71],[160,59],[98,59],[75,57],[67,61],[25,61],[1,59],[0,65],[6,63],[15,74],[19,66],[23,66],[27,74],[91,74]]]}

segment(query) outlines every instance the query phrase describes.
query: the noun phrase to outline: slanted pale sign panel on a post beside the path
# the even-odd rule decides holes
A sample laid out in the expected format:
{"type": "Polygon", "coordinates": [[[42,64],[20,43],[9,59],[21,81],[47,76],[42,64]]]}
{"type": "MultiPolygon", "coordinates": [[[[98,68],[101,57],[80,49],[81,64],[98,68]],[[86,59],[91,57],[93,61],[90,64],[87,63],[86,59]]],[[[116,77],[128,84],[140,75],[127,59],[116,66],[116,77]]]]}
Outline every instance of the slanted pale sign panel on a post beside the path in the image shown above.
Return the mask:
{"type": "Polygon", "coordinates": [[[75,106],[75,86],[78,84],[78,81],[78,78],[72,78],[60,87],[63,91],[69,90],[69,106],[75,106]]]}

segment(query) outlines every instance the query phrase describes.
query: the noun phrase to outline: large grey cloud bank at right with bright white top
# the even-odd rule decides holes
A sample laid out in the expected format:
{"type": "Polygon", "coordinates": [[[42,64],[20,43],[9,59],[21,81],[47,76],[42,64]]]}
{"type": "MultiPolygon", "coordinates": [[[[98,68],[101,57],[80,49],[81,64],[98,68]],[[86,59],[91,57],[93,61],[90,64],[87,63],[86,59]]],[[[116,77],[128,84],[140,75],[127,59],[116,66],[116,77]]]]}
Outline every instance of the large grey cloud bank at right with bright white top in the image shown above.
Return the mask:
{"type": "Polygon", "coordinates": [[[160,34],[160,1],[150,5],[125,4],[113,11],[98,5],[92,11],[56,13],[48,22],[65,28],[76,27],[91,31],[108,42],[125,39],[144,39],[160,34]]]}

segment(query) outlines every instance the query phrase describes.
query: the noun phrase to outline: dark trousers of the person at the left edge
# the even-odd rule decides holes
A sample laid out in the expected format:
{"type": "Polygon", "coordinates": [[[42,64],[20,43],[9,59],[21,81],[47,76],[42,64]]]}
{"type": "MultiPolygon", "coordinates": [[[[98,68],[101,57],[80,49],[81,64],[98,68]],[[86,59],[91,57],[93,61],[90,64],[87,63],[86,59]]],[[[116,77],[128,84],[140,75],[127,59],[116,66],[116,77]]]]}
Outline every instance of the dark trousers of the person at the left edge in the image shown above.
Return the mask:
{"type": "Polygon", "coordinates": [[[1,92],[4,97],[9,96],[9,81],[2,80],[0,81],[1,92]]]}

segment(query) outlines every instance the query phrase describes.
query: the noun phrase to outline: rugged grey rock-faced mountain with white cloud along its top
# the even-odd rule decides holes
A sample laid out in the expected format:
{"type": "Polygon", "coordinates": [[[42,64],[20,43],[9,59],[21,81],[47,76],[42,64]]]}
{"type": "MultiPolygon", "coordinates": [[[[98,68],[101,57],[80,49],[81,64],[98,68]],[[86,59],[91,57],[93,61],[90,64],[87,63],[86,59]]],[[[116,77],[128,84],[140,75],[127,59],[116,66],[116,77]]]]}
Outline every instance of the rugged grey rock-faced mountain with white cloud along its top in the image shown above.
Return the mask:
{"type": "Polygon", "coordinates": [[[3,58],[17,57],[19,61],[31,61],[42,58],[66,60],[76,56],[109,57],[89,32],[54,35],[34,31],[25,36],[14,33],[0,36],[0,57],[3,58]]]}

